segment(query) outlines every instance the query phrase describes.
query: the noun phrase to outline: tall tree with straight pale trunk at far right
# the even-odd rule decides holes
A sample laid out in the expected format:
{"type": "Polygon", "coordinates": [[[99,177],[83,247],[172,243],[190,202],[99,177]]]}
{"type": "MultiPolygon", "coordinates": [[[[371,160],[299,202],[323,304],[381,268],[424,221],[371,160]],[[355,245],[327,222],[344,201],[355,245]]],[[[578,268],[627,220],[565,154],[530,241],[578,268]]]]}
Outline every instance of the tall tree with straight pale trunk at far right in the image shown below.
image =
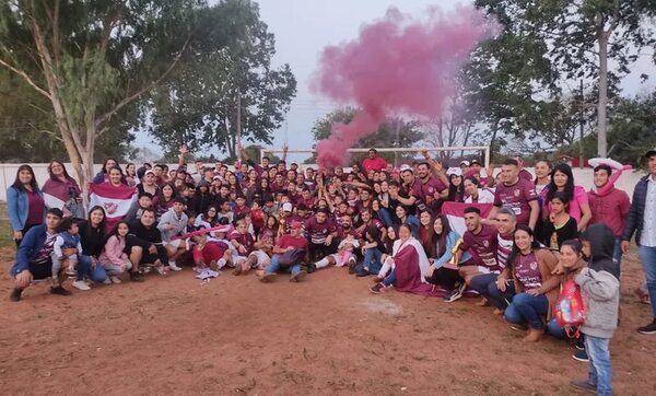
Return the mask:
{"type": "Polygon", "coordinates": [[[653,45],[651,0],[477,0],[504,26],[549,44],[554,70],[566,79],[593,79],[597,84],[597,154],[607,155],[609,92],[630,72],[637,51],[653,45]],[[609,60],[617,68],[609,69],[609,60]]]}

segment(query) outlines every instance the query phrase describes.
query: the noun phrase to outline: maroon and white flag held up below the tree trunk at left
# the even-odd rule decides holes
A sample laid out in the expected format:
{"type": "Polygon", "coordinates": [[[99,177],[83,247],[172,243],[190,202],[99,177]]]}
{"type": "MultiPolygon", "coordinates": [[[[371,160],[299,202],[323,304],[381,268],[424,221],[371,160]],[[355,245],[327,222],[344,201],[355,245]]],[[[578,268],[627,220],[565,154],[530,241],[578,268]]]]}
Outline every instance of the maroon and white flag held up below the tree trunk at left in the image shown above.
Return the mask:
{"type": "Polygon", "coordinates": [[[130,210],[137,190],[134,187],[115,187],[108,183],[89,186],[89,206],[99,206],[105,210],[107,230],[112,230],[130,210]]]}

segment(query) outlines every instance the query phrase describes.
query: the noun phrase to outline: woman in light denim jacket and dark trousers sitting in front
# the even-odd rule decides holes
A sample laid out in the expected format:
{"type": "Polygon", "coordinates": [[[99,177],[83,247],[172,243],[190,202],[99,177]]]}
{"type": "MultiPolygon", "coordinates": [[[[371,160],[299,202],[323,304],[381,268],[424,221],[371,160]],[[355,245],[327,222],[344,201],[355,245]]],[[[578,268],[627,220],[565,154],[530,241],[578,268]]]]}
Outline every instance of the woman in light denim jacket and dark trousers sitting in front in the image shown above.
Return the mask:
{"type": "Polygon", "coordinates": [[[431,267],[424,273],[424,278],[429,283],[443,288],[444,295],[450,295],[449,290],[454,290],[456,284],[464,283],[465,280],[458,273],[458,266],[471,260],[469,252],[464,252],[457,265],[450,264],[453,259],[453,251],[460,240],[460,235],[452,230],[448,219],[445,214],[440,214],[433,221],[433,236],[427,251],[429,261],[431,267]]]}

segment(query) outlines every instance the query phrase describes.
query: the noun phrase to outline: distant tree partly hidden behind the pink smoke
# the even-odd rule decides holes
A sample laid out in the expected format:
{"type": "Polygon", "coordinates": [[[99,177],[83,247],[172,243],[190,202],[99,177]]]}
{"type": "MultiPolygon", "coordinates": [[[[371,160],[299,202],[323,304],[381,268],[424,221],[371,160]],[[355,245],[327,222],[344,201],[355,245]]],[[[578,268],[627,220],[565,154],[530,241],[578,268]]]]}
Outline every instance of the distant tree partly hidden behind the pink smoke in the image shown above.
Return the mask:
{"type": "MultiPolygon", "coordinates": [[[[328,139],[333,124],[349,124],[353,120],[355,108],[344,107],[338,108],[324,118],[317,119],[312,128],[312,135],[315,141],[328,139]]],[[[390,118],[378,126],[375,133],[367,135],[361,139],[354,149],[361,148],[409,148],[415,142],[423,139],[423,133],[419,129],[420,123],[407,121],[401,118],[390,118]]],[[[414,154],[414,153],[413,153],[414,154]]],[[[366,156],[364,154],[353,155],[354,160],[361,160],[366,156]]],[[[393,153],[382,153],[382,156],[388,161],[395,160],[393,153]]],[[[314,163],[316,155],[306,160],[306,163],[314,163]]]]}

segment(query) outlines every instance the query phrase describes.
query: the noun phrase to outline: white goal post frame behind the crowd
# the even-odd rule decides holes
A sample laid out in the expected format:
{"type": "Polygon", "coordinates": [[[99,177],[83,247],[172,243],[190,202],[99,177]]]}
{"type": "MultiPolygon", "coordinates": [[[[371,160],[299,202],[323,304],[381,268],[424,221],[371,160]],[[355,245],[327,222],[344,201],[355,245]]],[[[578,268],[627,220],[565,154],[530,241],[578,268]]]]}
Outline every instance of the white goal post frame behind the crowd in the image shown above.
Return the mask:
{"type": "MultiPolygon", "coordinates": [[[[433,158],[437,158],[437,160],[446,161],[449,166],[457,166],[462,160],[471,161],[478,160],[482,161],[485,167],[490,165],[490,147],[489,145],[454,145],[454,147],[413,147],[413,148],[362,148],[362,149],[349,149],[348,152],[352,154],[352,156],[364,158],[366,153],[371,150],[375,149],[378,154],[386,158],[389,162],[394,163],[395,166],[398,166],[401,163],[412,162],[414,159],[419,158],[419,152],[422,150],[432,153],[433,158]],[[355,154],[355,155],[353,155],[355,154]],[[358,155],[360,154],[360,155],[358,155]]],[[[260,148],[260,158],[271,155],[271,154],[281,154],[283,152],[282,149],[273,148],[260,148]]],[[[316,154],[316,149],[289,149],[288,155],[292,154],[308,154],[308,158],[312,158],[313,154],[316,154]]],[[[297,155],[294,155],[297,156],[297,155]]],[[[289,160],[288,160],[289,162],[289,160]]]]}

